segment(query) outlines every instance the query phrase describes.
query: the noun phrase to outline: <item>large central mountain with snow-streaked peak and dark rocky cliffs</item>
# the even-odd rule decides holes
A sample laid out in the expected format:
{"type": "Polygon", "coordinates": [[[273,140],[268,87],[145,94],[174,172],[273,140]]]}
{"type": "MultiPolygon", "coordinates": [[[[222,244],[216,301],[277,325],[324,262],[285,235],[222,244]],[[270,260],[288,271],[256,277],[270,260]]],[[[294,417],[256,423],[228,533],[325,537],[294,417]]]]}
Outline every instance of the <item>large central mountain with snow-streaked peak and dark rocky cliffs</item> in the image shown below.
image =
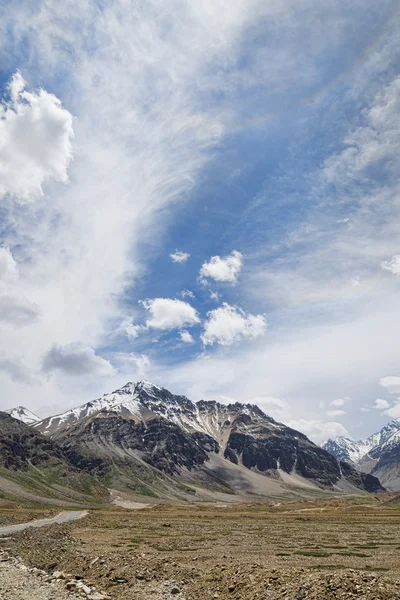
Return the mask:
{"type": "Polygon", "coordinates": [[[379,491],[253,404],[192,402],[147,381],[34,424],[64,451],[109,465],[109,487],[156,496],[379,491]]]}

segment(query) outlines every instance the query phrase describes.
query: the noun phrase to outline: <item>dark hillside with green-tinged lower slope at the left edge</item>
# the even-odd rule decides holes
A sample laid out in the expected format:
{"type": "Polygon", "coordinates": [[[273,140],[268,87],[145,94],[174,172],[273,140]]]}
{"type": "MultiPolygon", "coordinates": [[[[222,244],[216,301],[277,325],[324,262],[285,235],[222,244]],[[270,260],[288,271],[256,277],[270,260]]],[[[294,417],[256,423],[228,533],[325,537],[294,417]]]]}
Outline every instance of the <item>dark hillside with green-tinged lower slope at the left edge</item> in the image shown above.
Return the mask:
{"type": "Polygon", "coordinates": [[[69,453],[10,414],[0,412],[0,499],[61,506],[106,501],[93,477],[106,473],[101,459],[69,453]]]}

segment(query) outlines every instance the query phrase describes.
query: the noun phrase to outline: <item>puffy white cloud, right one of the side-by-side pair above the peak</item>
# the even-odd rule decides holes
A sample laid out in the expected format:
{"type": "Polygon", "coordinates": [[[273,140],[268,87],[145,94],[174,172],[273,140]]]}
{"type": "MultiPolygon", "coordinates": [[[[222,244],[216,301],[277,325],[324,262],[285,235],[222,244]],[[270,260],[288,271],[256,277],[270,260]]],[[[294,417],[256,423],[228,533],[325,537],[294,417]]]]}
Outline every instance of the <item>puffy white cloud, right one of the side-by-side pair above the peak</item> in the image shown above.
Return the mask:
{"type": "Polygon", "coordinates": [[[251,315],[224,302],[219,308],[207,313],[201,340],[204,345],[216,342],[222,346],[230,346],[243,338],[255,339],[264,335],[266,327],[264,315],[251,315]]]}

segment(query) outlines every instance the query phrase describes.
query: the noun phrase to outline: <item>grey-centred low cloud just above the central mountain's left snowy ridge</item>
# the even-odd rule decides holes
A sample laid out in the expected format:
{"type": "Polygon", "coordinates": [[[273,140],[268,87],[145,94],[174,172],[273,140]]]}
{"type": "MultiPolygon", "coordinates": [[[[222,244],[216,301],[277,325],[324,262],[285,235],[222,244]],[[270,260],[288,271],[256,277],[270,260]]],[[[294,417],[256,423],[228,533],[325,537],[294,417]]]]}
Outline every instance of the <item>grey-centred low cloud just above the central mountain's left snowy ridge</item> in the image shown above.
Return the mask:
{"type": "Polygon", "coordinates": [[[61,371],[67,375],[113,375],[108,360],[98,356],[93,348],[79,343],[55,344],[43,360],[43,371],[61,371]]]}

